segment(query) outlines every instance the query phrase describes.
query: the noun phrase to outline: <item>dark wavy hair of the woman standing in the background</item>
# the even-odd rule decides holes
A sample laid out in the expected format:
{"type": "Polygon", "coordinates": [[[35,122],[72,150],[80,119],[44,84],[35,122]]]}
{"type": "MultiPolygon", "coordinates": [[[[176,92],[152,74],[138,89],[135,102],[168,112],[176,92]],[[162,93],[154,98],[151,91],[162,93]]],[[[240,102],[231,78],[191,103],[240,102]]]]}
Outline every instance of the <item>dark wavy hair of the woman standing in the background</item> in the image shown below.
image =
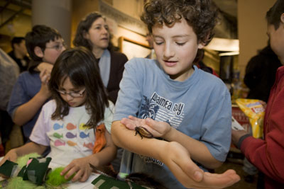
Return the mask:
{"type": "MultiPolygon", "coordinates": [[[[75,45],[76,47],[79,47],[79,46],[87,47],[87,49],[92,51],[92,48],[93,48],[92,42],[84,38],[84,33],[87,33],[89,31],[89,28],[91,28],[94,21],[97,21],[97,18],[104,18],[104,17],[100,13],[93,12],[93,13],[89,13],[86,16],[86,18],[80,21],[77,27],[75,39],[73,40],[73,45],[75,45]]],[[[112,35],[111,33],[109,33],[109,46],[107,47],[108,50],[113,50],[114,48],[114,45],[111,43],[111,37],[112,35]]]]}

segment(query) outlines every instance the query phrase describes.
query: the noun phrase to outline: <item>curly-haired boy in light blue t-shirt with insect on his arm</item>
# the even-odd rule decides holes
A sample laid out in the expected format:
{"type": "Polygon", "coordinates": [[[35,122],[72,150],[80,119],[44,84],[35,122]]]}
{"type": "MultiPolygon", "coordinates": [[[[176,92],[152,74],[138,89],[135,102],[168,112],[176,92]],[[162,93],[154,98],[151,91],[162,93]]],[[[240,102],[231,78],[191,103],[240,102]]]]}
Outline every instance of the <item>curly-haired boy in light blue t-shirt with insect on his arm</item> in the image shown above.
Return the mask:
{"type": "Polygon", "coordinates": [[[204,173],[222,165],[231,143],[229,91],[192,64],[212,39],[216,17],[210,0],[145,5],[141,19],[157,60],[135,58],[125,66],[111,125],[114,143],[126,149],[119,176],[145,173],[167,188],[224,188],[239,181],[233,170],[204,173]],[[153,138],[141,139],[135,132],[151,134],[138,126],[153,138]]]}

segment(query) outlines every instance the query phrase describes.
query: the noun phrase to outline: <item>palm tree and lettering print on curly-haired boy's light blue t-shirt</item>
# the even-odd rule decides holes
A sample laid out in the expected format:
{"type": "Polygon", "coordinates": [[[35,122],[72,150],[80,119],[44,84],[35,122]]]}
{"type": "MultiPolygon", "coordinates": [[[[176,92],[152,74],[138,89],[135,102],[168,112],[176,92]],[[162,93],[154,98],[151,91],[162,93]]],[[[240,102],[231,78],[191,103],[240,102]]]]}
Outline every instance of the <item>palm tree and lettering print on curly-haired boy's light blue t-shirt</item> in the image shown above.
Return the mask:
{"type": "MultiPolygon", "coordinates": [[[[184,119],[184,103],[173,103],[154,92],[151,98],[143,96],[138,118],[151,118],[156,121],[168,122],[171,127],[177,129],[184,119]]],[[[148,156],[140,156],[147,163],[163,166],[163,162],[148,156]]]]}

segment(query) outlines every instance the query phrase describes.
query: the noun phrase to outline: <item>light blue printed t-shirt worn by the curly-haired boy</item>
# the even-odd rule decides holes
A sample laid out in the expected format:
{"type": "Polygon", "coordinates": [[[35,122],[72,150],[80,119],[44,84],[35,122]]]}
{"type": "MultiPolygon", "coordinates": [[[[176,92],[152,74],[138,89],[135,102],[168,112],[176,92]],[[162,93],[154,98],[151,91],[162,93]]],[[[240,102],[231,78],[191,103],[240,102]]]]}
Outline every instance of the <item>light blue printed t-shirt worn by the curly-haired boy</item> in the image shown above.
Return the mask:
{"type": "MultiPolygon", "coordinates": [[[[114,120],[152,118],[203,142],[212,156],[225,161],[231,144],[231,97],[217,76],[194,67],[185,81],[174,81],[153,59],[125,64],[114,120]]],[[[170,153],[170,151],[169,151],[170,153]]],[[[163,162],[124,151],[123,173],[146,173],[168,188],[184,188],[163,162]]]]}

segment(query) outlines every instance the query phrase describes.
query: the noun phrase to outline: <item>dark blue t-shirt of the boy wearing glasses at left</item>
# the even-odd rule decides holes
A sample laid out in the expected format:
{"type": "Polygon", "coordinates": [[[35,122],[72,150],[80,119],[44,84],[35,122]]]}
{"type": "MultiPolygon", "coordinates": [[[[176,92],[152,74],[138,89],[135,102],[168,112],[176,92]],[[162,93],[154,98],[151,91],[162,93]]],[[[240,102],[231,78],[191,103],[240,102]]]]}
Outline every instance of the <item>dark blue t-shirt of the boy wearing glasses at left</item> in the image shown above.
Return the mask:
{"type": "MultiPolygon", "coordinates": [[[[41,81],[40,74],[38,72],[31,74],[28,71],[24,71],[22,74],[20,74],[20,76],[18,76],[16,84],[13,86],[13,91],[7,108],[11,118],[13,118],[13,114],[20,105],[30,101],[31,98],[33,98],[33,96],[40,91],[40,87],[41,81]]],[[[40,110],[41,108],[38,110],[35,116],[33,116],[33,119],[23,125],[23,135],[26,137],[26,139],[30,137],[33,126],[35,125],[36,120],[38,120],[40,110]]]]}

